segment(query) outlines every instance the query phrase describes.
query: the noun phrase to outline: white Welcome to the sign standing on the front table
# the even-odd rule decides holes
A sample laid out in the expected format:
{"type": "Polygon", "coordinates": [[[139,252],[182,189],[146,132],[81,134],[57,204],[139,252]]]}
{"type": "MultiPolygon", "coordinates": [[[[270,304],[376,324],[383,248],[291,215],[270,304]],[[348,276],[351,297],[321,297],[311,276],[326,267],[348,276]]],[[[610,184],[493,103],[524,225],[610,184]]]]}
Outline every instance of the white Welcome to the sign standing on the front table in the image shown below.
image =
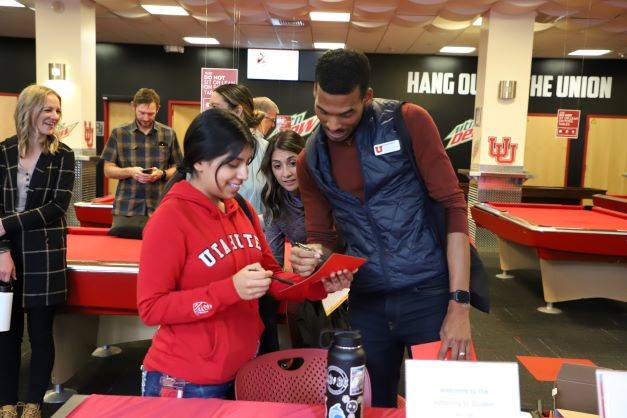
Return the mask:
{"type": "Polygon", "coordinates": [[[406,360],[407,417],[520,417],[518,364],[406,360]]]}

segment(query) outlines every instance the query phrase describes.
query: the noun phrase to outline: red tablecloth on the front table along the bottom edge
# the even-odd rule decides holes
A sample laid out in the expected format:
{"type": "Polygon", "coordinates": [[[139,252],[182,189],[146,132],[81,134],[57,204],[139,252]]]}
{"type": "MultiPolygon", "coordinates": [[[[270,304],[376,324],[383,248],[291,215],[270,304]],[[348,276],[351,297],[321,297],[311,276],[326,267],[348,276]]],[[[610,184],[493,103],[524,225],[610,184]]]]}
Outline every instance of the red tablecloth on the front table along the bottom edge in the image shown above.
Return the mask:
{"type": "MultiPolygon", "coordinates": [[[[323,418],[323,405],[91,395],[68,417],[323,418]]],[[[366,408],[363,418],[405,418],[404,409],[366,408]]]]}

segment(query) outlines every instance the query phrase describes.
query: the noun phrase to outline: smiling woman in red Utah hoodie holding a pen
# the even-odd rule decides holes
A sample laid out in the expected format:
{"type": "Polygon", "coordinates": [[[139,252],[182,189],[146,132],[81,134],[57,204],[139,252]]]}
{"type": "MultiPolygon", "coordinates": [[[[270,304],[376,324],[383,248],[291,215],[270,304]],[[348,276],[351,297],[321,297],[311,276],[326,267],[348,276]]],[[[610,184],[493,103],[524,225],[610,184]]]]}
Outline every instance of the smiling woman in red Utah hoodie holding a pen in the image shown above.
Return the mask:
{"type": "MultiPolygon", "coordinates": [[[[235,116],[198,115],[184,141],[180,181],[144,230],[137,305],[147,325],[159,325],[146,354],[142,395],[227,397],[238,369],[255,357],[263,324],[257,300],[285,284],[252,206],[252,222],[234,199],[248,177],[255,140],[235,116]],[[183,176],[181,176],[182,178],[183,176]]],[[[338,272],[300,295],[322,299],[348,287],[338,272]]]]}

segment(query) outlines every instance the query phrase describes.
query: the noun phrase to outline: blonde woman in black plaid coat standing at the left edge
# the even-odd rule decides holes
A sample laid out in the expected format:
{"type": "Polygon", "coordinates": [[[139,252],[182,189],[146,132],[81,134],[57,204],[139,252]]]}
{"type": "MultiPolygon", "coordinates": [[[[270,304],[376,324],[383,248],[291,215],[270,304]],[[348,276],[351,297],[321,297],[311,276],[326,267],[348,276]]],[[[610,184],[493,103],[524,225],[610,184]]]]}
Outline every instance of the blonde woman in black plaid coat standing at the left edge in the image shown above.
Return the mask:
{"type": "Polygon", "coordinates": [[[15,109],[17,135],[0,143],[0,280],[15,280],[11,328],[0,332],[3,416],[17,413],[24,313],[32,356],[23,416],[41,416],[54,363],[55,306],[67,296],[65,212],[74,153],[55,135],[60,118],[58,93],[26,87],[15,109]]]}

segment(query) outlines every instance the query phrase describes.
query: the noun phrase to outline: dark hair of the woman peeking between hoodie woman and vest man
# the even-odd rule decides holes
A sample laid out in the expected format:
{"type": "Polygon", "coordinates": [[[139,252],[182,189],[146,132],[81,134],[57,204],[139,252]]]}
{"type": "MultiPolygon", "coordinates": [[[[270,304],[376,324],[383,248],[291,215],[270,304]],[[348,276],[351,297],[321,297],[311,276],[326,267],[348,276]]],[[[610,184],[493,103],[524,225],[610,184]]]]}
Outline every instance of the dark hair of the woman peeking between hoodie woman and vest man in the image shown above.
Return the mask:
{"type": "Polygon", "coordinates": [[[281,216],[284,202],[281,198],[283,187],[272,172],[272,154],[274,150],[280,149],[298,155],[303,148],[305,148],[305,140],[294,131],[283,131],[275,135],[268,143],[259,170],[266,177],[266,184],[261,189],[261,199],[265,213],[271,214],[273,219],[278,219],[281,216]]]}

